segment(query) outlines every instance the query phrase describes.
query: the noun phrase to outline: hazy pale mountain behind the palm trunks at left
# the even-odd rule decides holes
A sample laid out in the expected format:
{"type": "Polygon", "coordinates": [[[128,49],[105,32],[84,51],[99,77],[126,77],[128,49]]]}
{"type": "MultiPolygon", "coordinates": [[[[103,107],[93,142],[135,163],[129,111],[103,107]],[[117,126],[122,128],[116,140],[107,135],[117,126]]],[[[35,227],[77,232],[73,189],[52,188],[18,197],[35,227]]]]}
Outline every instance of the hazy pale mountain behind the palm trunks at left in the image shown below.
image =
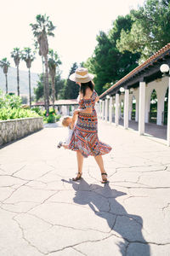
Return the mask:
{"type": "MultiPolygon", "coordinates": [[[[17,74],[16,68],[9,67],[8,69],[8,92],[14,92],[17,95],[17,74]]],[[[37,87],[38,74],[31,73],[31,94],[33,94],[33,88],[37,87]]],[[[4,92],[5,88],[5,75],[3,69],[0,68],[0,89],[4,92]]],[[[28,85],[28,72],[20,70],[20,95],[29,95],[28,85]]]]}

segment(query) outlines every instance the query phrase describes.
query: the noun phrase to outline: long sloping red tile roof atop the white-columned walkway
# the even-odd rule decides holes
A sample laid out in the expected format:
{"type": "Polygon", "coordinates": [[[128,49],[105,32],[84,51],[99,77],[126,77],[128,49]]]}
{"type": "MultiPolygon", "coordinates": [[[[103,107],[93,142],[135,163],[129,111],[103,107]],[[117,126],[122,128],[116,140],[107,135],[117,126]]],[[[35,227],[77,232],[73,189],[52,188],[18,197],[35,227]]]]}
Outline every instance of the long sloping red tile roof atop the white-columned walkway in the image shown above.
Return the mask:
{"type": "Polygon", "coordinates": [[[123,81],[130,78],[133,74],[138,73],[142,68],[144,68],[145,66],[148,66],[148,64],[150,64],[150,62],[157,61],[156,59],[157,58],[159,59],[159,57],[162,54],[165,54],[166,51],[167,51],[167,55],[169,55],[169,53],[170,53],[170,43],[165,45],[160,50],[158,50],[156,52],[156,54],[151,55],[150,58],[147,61],[144,61],[144,63],[142,63],[138,67],[134,68],[130,73],[127,73],[126,76],[124,76],[122,79],[120,79],[118,82],[116,82],[116,84],[113,84],[108,90],[105,90],[105,92],[102,93],[99,97],[107,95],[113,88],[116,88],[117,85],[122,84],[123,81]]]}

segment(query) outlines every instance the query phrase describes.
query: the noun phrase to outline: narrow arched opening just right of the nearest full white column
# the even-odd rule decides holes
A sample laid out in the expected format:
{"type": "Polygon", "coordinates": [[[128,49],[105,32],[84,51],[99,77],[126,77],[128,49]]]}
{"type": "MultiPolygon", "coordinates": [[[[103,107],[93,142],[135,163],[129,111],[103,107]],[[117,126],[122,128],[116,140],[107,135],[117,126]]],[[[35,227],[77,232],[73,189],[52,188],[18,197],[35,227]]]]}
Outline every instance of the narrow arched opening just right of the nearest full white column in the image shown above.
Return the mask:
{"type": "Polygon", "coordinates": [[[150,95],[150,123],[156,123],[157,119],[157,95],[156,90],[152,90],[150,95]]]}

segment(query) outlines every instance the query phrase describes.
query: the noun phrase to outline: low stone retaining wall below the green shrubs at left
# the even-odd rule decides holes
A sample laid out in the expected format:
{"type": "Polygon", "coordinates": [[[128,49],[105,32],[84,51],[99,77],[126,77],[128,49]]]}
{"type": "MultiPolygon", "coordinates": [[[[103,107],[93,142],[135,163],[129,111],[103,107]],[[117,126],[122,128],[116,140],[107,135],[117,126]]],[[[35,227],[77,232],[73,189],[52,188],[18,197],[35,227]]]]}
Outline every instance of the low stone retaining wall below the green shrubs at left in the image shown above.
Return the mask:
{"type": "Polygon", "coordinates": [[[42,117],[0,121],[0,146],[43,128],[42,117]]]}

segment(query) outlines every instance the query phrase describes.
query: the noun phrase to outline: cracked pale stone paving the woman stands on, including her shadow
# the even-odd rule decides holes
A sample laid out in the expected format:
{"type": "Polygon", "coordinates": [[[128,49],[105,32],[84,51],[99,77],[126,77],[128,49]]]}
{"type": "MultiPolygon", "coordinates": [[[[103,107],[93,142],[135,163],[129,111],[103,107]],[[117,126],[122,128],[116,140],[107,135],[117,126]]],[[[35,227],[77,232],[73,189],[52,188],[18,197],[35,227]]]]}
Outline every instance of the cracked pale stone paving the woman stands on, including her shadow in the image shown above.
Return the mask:
{"type": "Polygon", "coordinates": [[[170,148],[99,122],[110,183],[93,157],[75,183],[65,133],[46,125],[0,150],[0,255],[169,256],[170,148]]]}

